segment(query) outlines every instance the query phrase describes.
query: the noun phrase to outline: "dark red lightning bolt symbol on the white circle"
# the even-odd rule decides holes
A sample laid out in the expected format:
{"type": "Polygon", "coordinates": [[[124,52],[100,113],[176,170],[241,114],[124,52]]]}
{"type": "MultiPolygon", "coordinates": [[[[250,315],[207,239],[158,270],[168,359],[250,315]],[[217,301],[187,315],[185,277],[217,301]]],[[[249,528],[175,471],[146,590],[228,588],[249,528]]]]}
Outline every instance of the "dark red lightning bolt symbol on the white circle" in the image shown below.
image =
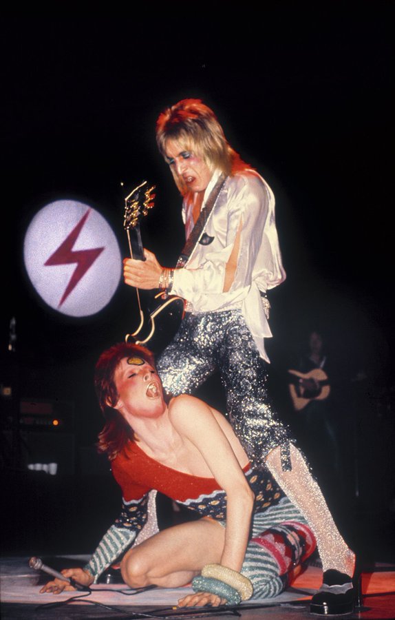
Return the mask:
{"type": "Polygon", "coordinates": [[[59,245],[58,249],[54,251],[54,254],[48,258],[48,260],[44,263],[45,265],[70,265],[73,262],[76,262],[77,266],[74,269],[74,273],[70,278],[70,282],[68,283],[65,292],[61,298],[61,301],[58,307],[61,307],[63,302],[70,295],[72,290],[78,285],[78,282],[83,278],[89,267],[92,267],[92,264],[95,262],[96,258],[98,258],[99,254],[103,252],[104,247],[95,247],[89,250],[76,250],[73,251],[73,246],[76,240],[78,239],[81,230],[83,229],[85,222],[87,220],[87,216],[89,216],[90,209],[87,210],[85,216],[78,222],[76,227],[71,231],[70,235],[65,238],[63,243],[59,245]]]}

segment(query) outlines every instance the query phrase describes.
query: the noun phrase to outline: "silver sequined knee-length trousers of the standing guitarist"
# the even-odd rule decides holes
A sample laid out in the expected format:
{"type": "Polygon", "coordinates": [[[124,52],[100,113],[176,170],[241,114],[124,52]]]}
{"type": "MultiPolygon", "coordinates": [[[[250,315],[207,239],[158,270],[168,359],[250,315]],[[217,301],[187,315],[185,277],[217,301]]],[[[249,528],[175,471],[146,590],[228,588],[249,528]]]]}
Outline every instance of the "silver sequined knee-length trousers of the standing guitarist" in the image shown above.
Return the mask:
{"type": "MultiPolygon", "coordinates": [[[[263,466],[273,448],[288,446],[288,429],[268,395],[268,365],[259,356],[239,309],[187,313],[157,366],[164,390],[173,395],[193,393],[220,371],[226,413],[255,466],[263,466]]],[[[287,468],[287,450],[281,453],[287,468]]]]}

